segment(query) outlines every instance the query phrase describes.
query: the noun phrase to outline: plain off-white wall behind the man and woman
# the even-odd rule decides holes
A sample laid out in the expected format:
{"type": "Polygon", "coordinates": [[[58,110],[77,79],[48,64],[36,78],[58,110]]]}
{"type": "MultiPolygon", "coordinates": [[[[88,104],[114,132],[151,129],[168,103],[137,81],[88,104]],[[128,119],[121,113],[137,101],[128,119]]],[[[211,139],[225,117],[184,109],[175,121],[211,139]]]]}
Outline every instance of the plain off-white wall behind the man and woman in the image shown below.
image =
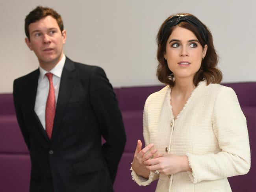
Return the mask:
{"type": "Polygon", "coordinates": [[[102,66],[114,87],[156,85],[156,33],[169,15],[195,14],[211,30],[223,82],[256,81],[256,1],[1,0],[0,93],[38,66],[24,42],[24,18],[37,5],[61,14],[65,54],[102,66]],[[43,2],[43,3],[42,3],[43,2]]]}

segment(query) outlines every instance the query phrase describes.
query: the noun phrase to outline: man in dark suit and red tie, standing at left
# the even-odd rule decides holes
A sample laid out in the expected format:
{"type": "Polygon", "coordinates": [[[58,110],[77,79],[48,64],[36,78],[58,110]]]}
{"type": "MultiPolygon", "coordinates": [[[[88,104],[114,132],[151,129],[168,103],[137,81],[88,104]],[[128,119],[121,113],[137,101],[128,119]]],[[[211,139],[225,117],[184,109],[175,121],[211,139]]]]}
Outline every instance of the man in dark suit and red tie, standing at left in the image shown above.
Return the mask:
{"type": "Polygon", "coordinates": [[[30,151],[30,191],[113,191],[126,136],[104,71],[63,54],[67,35],[53,9],[31,11],[25,32],[39,69],[15,79],[13,98],[30,151]]]}

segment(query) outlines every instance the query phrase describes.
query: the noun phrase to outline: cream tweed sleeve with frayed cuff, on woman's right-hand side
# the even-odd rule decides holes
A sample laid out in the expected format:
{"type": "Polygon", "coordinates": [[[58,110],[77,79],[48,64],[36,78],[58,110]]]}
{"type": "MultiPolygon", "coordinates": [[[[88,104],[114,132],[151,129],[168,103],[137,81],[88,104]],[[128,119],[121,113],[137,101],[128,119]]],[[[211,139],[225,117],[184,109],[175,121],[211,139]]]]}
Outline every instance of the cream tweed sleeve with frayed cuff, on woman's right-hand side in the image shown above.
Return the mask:
{"type": "Polygon", "coordinates": [[[193,183],[247,174],[250,169],[250,146],[246,119],[233,89],[223,87],[213,109],[213,131],[219,153],[187,153],[193,183]]]}

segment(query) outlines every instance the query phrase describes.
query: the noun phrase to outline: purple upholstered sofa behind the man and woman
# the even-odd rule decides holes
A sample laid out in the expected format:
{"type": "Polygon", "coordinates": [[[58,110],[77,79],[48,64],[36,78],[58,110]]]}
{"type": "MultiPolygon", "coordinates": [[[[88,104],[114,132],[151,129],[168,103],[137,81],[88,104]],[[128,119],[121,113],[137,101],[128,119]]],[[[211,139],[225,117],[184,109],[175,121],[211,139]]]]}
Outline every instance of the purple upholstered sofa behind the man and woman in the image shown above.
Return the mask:
{"type": "MultiPolygon", "coordinates": [[[[230,177],[233,192],[254,192],[256,186],[256,82],[228,83],[239,99],[247,118],[251,149],[251,168],[247,175],[230,177]]],[[[143,106],[148,95],[163,86],[127,87],[114,89],[122,112],[127,142],[122,155],[115,192],[154,192],[156,181],[149,186],[138,186],[131,179],[130,166],[137,139],[143,140],[143,106]]],[[[0,94],[0,191],[28,192],[30,179],[30,158],[17,124],[11,94],[0,94]]]]}

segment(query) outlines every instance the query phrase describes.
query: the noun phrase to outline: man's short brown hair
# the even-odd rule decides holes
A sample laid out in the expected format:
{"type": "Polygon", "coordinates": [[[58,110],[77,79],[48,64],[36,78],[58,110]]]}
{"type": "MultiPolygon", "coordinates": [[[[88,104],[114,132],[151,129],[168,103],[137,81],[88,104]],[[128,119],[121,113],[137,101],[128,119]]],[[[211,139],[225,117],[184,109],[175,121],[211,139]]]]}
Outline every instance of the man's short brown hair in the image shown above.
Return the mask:
{"type": "Polygon", "coordinates": [[[30,39],[28,26],[31,23],[37,22],[38,20],[40,20],[48,15],[50,15],[56,19],[60,31],[63,31],[63,28],[64,28],[63,21],[62,21],[61,16],[59,15],[59,13],[57,13],[54,9],[51,9],[49,7],[37,6],[37,7],[35,7],[35,9],[30,11],[30,13],[25,18],[25,33],[26,33],[26,36],[28,37],[28,39],[30,39]]]}

